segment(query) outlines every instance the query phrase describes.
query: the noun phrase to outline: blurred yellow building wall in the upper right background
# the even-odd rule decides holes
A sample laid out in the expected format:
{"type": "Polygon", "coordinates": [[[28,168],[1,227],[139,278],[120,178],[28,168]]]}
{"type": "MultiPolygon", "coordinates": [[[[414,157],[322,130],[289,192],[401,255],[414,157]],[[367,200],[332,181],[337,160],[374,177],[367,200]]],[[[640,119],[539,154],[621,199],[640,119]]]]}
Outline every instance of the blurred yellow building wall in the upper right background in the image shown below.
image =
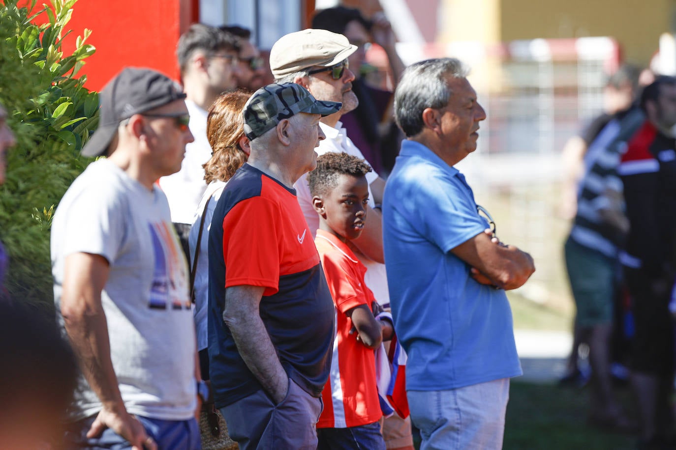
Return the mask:
{"type": "MultiPolygon", "coordinates": [[[[466,0],[466,3],[493,0],[466,0]]],[[[648,65],[660,34],[673,32],[676,0],[502,0],[502,40],[616,38],[627,61],[648,65]]]]}

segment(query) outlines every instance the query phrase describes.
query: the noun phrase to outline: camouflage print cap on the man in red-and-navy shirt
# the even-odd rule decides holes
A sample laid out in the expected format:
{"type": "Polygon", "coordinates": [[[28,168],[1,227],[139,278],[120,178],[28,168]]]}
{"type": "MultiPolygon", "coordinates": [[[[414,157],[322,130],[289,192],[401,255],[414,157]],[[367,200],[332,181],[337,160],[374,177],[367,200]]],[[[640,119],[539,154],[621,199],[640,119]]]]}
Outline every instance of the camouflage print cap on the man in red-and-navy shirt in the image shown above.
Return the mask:
{"type": "Polygon", "coordinates": [[[323,117],[337,113],[342,105],[318,101],[299,84],[268,84],[254,92],[244,105],[244,134],[254,140],[294,114],[321,114],[323,117]]]}

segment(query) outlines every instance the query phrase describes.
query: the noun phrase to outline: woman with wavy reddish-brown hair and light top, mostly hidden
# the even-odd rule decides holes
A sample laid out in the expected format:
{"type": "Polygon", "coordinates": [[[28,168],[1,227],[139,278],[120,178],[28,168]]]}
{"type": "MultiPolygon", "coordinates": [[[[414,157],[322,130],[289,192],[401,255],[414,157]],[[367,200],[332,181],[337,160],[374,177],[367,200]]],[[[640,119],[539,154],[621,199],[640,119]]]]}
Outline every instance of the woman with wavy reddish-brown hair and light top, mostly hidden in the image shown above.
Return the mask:
{"type": "Polygon", "coordinates": [[[204,179],[208,184],[190,229],[191,295],[195,301],[195,329],[202,378],[209,379],[207,353],[207,298],[209,290],[208,236],[216,203],[228,182],[239,167],[249,159],[249,140],[244,136],[242,111],[251,94],[228,92],[218,96],[209,108],[207,137],[214,153],[203,165],[204,179]],[[199,243],[199,246],[198,246],[199,243]],[[197,258],[195,251],[197,250],[197,258]]]}

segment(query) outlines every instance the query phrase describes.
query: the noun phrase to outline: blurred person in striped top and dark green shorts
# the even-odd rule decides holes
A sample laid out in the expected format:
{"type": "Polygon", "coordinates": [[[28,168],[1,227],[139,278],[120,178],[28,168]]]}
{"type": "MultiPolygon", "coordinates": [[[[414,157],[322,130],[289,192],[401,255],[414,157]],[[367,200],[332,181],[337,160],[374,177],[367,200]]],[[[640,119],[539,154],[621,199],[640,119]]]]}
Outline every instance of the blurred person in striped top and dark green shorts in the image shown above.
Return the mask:
{"type": "MultiPolygon", "coordinates": [[[[606,113],[592,122],[585,140],[580,141],[583,153],[577,157],[580,163],[583,158],[584,169],[577,186],[573,227],[564,248],[577,307],[574,341],[589,346],[589,422],[620,432],[631,431],[635,425],[614,399],[610,374],[614,312],[621,293],[618,256],[629,231],[617,168],[625,142],[644,121],[642,111],[633,105],[638,77],[639,69],[632,65],[623,65],[610,77],[606,113]]],[[[577,368],[576,347],[569,358],[569,371],[560,383],[579,383],[582,374],[577,368]]]]}

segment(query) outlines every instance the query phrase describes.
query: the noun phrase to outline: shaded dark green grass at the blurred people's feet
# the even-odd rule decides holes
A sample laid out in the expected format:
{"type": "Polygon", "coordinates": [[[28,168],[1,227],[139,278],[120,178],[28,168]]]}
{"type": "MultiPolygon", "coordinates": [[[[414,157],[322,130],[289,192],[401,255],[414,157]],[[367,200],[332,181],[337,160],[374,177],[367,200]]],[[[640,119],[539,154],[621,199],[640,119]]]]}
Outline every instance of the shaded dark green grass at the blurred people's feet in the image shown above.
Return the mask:
{"type": "MultiPolygon", "coordinates": [[[[620,391],[629,403],[627,390],[620,391]]],[[[632,450],[636,437],[587,425],[587,389],[512,381],[505,424],[505,450],[632,450]]]]}

